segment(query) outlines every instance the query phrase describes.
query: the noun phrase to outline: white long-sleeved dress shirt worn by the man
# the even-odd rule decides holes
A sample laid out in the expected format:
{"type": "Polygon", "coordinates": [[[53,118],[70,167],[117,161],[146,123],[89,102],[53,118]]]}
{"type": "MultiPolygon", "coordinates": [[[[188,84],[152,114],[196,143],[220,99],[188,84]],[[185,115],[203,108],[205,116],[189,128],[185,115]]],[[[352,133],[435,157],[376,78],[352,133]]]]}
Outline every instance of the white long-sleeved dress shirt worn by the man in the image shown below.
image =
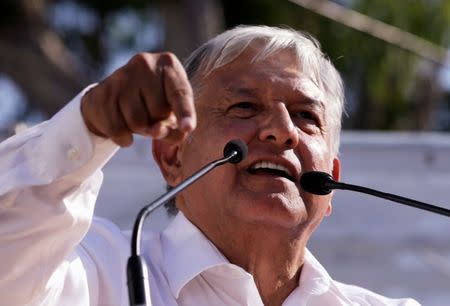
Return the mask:
{"type": "MultiPolygon", "coordinates": [[[[0,144],[0,306],[128,305],[130,243],[93,217],[102,166],[117,150],[89,133],[78,95],[51,120],[0,144]]],[[[231,264],[183,214],[145,233],[152,305],[263,305],[251,274],[231,264]]],[[[306,251],[283,306],[419,305],[334,281],[306,251]]]]}

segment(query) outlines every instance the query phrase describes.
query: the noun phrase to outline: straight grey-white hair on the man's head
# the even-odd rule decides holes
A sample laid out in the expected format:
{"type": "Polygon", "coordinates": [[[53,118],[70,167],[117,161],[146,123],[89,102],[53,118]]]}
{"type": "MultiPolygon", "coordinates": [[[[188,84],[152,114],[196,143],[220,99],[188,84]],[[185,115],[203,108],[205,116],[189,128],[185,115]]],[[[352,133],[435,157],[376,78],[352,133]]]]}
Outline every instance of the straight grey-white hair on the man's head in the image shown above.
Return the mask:
{"type": "Polygon", "coordinates": [[[185,61],[186,72],[194,92],[201,79],[215,69],[236,59],[252,42],[258,42],[258,52],[252,61],[263,60],[282,50],[292,50],[298,58],[302,73],[324,93],[331,129],[332,153],[338,154],[341,117],[344,111],[342,79],[311,35],[292,29],[268,26],[238,26],[228,30],[196,49],[185,61]]]}

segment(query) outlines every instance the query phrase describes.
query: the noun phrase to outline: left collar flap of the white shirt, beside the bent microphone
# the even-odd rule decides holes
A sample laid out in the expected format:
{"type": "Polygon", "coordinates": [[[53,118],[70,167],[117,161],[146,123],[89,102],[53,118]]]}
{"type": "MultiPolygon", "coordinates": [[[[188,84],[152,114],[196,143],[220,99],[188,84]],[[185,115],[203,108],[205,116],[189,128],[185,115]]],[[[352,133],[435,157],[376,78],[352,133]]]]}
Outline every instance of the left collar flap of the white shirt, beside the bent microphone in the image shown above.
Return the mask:
{"type": "Polygon", "coordinates": [[[163,267],[172,294],[178,298],[181,289],[203,271],[229,261],[179,212],[161,235],[163,267]]]}

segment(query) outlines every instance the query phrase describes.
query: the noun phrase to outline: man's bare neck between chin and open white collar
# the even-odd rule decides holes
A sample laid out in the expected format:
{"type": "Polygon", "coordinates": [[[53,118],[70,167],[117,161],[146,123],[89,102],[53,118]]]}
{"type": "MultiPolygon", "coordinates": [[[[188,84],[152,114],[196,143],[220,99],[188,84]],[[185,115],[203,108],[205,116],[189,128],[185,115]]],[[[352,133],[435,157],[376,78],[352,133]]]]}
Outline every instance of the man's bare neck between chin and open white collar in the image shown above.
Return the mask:
{"type": "Polygon", "coordinates": [[[235,238],[219,249],[231,263],[253,275],[264,305],[281,305],[298,287],[306,239],[264,226],[239,230],[229,237],[235,238]]]}

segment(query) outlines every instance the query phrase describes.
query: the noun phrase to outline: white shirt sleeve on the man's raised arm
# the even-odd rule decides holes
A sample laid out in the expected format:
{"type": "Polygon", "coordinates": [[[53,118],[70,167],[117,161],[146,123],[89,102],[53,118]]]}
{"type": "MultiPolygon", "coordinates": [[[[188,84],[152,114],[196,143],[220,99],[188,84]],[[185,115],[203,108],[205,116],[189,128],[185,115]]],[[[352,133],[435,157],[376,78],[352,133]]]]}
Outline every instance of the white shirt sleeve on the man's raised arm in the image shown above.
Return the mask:
{"type": "Polygon", "coordinates": [[[89,89],[49,121],[0,144],[2,305],[56,305],[65,271],[89,268],[72,251],[92,221],[100,169],[118,149],[84,124],[80,101],[89,89]]]}

